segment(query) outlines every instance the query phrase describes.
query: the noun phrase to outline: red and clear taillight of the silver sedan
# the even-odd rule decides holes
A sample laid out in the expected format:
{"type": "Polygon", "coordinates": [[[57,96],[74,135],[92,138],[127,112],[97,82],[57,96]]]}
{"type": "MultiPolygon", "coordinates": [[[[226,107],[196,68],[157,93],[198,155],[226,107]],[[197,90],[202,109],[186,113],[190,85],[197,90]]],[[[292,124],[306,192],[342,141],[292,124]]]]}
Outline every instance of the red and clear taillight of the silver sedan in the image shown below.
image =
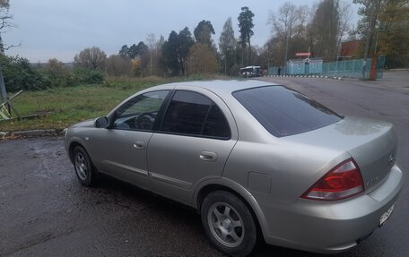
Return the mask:
{"type": "Polygon", "coordinates": [[[363,192],[361,171],[350,158],[331,169],[316,184],[302,194],[302,198],[321,201],[336,201],[363,192]]]}

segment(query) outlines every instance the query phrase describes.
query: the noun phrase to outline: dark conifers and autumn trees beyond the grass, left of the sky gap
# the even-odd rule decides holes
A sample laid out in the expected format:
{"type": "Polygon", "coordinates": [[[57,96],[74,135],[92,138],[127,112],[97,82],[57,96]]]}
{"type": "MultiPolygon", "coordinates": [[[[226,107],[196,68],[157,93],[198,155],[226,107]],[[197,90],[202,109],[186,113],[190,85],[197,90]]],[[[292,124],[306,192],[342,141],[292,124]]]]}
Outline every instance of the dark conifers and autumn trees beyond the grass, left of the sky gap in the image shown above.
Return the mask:
{"type": "Polygon", "coordinates": [[[251,55],[258,56],[251,47],[253,17],[248,7],[239,13],[239,39],[234,36],[231,17],[225,22],[219,40],[219,48],[213,41],[215,34],[211,21],[199,21],[192,32],[187,28],[172,30],[168,39],[156,39],[149,34],[144,41],[122,46],[117,55],[109,57],[99,47],[86,48],[74,57],[74,66],[106,71],[112,76],[186,76],[189,74],[225,73],[238,75],[239,67],[257,62],[251,55]],[[100,60],[98,67],[91,62],[100,60]]]}

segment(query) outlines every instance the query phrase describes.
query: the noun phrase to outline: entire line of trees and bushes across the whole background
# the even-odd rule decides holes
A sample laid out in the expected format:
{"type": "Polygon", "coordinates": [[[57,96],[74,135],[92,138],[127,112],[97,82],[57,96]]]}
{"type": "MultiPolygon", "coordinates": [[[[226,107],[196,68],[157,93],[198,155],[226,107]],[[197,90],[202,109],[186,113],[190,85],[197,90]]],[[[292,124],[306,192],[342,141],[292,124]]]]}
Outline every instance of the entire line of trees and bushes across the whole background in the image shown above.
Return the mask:
{"type": "MultiPolygon", "coordinates": [[[[360,4],[360,20],[352,23],[351,2],[321,0],[312,7],[287,2],[269,13],[271,37],[262,47],[251,44],[254,17],[247,6],[237,20],[229,17],[218,42],[212,37],[211,21],[199,21],[191,30],[172,30],[167,39],[155,34],[132,45],[119,47],[117,55],[107,56],[99,47],[88,47],[74,56],[73,66],[57,59],[32,65],[23,57],[0,56],[8,90],[38,90],[56,85],[99,83],[105,76],[186,76],[222,73],[237,76],[246,65],[283,66],[297,52],[311,52],[325,62],[340,59],[345,40],[361,41],[358,57],[387,56],[387,68],[409,66],[409,0],[352,0],[360,4]],[[239,25],[235,35],[233,22],[239,25]],[[366,44],[368,40],[369,44],[366,44]]],[[[9,1],[0,0],[3,26],[11,26],[9,1]],[[4,22],[5,21],[5,22],[4,22]]],[[[0,31],[2,27],[0,27],[0,31]]],[[[4,46],[0,38],[0,49],[4,46]]]]}

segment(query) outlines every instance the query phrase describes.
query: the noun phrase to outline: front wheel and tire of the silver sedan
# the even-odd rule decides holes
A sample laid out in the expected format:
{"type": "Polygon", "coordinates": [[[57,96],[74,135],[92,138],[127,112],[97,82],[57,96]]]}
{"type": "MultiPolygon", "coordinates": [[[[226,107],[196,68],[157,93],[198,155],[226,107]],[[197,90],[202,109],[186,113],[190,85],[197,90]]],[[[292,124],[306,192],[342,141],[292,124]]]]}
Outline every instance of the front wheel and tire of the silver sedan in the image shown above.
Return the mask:
{"type": "Polygon", "coordinates": [[[73,151],[75,174],[81,184],[91,187],[97,183],[97,171],[87,151],[77,146],[73,151]]]}

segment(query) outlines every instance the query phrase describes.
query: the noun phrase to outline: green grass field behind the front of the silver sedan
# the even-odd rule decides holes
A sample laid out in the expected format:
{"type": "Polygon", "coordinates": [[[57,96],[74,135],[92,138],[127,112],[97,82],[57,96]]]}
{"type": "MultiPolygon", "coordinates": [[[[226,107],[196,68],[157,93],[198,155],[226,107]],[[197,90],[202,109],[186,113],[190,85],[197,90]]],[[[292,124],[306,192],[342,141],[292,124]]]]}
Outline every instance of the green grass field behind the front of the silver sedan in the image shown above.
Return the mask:
{"type": "Polygon", "coordinates": [[[122,100],[139,90],[174,81],[225,79],[222,76],[194,76],[177,79],[158,77],[109,78],[101,85],[82,85],[41,91],[25,91],[13,99],[13,107],[21,116],[44,114],[36,118],[0,121],[0,132],[31,129],[62,130],[77,122],[105,116],[122,100]]]}

